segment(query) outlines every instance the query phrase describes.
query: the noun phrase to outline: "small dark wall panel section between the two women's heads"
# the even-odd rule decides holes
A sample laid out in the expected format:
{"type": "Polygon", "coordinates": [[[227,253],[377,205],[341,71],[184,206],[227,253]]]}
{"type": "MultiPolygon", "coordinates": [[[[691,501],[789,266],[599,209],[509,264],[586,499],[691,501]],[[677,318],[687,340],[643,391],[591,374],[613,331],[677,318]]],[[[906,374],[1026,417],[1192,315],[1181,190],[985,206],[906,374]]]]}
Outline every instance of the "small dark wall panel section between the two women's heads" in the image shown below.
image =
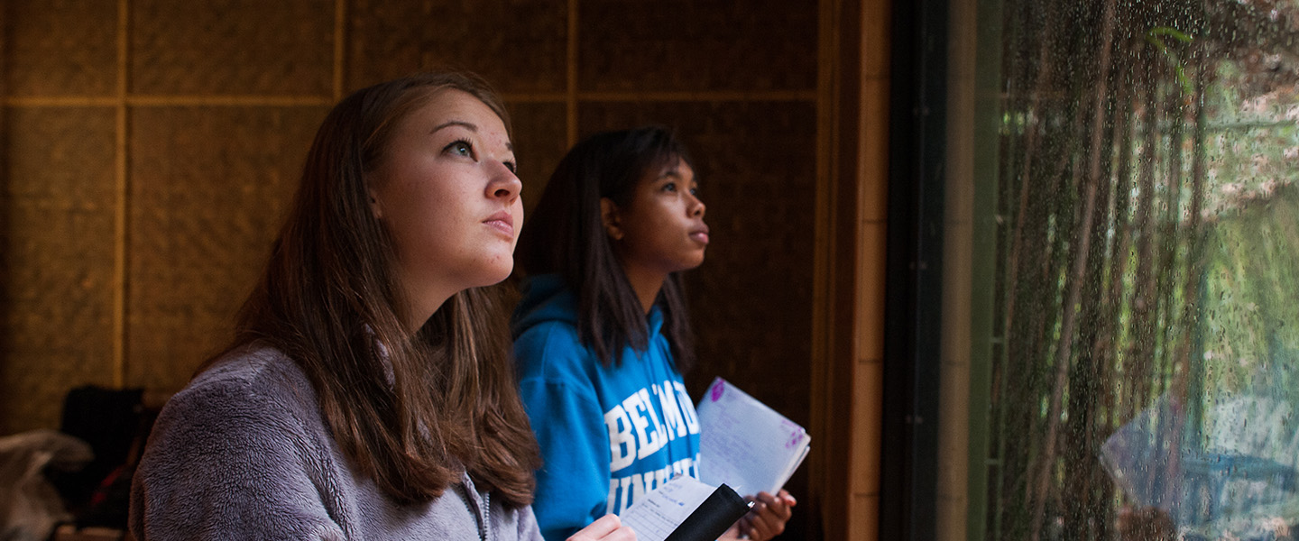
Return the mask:
{"type": "MultiPolygon", "coordinates": [[[[530,211],[568,150],[568,115],[564,104],[507,104],[507,109],[514,128],[518,178],[523,182],[523,209],[530,211]]],[[[523,223],[526,227],[526,214],[523,223]]]]}

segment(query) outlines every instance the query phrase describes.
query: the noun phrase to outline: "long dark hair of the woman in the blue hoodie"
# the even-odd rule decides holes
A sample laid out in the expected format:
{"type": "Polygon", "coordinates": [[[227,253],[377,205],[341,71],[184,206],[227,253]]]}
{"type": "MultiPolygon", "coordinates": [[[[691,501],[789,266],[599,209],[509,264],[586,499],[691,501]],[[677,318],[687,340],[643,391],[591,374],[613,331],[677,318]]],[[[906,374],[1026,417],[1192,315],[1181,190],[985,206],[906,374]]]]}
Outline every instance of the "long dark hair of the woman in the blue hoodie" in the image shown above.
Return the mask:
{"type": "MultiPolygon", "coordinates": [[[[692,166],[686,147],[661,126],[592,135],[560,161],[520,235],[516,261],[527,274],[564,278],[578,297],[578,337],[605,366],[621,362],[617,352],[626,345],[648,348],[648,336],[644,309],[600,221],[600,198],[627,208],[648,171],[678,161],[692,166]]],[[[655,302],[685,374],[695,362],[695,336],[679,272],[668,275],[655,302]]]]}

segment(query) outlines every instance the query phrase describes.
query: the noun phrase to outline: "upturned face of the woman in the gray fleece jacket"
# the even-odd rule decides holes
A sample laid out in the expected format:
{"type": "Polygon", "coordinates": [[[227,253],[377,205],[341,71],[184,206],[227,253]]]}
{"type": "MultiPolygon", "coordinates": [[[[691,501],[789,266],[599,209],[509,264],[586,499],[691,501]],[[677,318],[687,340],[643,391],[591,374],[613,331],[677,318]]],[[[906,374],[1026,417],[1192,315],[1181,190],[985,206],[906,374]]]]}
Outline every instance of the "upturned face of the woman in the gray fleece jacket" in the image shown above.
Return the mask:
{"type": "Polygon", "coordinates": [[[509,276],[522,184],[505,125],[477,97],[438,91],[397,123],[366,183],[395,243],[410,323],[461,289],[509,276]]]}

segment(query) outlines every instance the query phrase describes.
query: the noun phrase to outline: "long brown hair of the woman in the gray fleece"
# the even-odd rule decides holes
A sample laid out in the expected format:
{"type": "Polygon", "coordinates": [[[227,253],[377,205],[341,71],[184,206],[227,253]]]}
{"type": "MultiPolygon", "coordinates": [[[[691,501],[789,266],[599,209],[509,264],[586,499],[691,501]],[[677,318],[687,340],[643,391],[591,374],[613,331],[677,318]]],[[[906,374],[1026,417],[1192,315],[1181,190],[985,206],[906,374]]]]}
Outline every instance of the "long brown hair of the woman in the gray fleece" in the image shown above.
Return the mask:
{"type": "Polygon", "coordinates": [[[365,186],[392,128],[448,88],[482,100],[509,131],[500,100],[468,74],[412,75],[334,106],[234,344],[266,343],[297,362],[343,453],[392,498],[436,498],[466,471],[523,506],[540,458],[516,391],[504,293],[456,293],[408,336],[394,244],[365,186]]]}

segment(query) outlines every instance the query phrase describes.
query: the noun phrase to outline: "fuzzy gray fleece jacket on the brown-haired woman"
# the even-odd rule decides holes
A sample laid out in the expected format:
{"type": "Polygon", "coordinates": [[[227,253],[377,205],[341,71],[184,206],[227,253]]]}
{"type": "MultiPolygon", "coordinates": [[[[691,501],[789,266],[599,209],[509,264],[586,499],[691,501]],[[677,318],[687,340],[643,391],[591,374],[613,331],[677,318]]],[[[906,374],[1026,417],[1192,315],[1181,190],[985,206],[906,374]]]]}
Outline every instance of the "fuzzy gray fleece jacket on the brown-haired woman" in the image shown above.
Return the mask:
{"type": "Polygon", "coordinates": [[[131,485],[136,540],[540,540],[468,476],[399,505],[353,474],[296,363],[244,348],[171,397],[131,485]],[[483,507],[487,527],[483,529],[483,507]]]}

